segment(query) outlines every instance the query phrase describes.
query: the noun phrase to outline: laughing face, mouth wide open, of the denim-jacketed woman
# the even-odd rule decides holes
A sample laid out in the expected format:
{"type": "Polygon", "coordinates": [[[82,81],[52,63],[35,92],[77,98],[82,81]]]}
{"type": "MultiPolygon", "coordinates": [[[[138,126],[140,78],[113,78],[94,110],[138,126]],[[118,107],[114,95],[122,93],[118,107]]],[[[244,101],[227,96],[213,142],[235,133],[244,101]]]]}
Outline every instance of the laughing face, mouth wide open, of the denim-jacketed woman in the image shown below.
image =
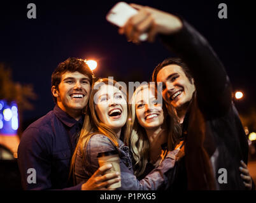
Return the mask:
{"type": "Polygon", "coordinates": [[[103,84],[94,97],[99,120],[115,131],[122,129],[127,121],[127,101],[122,91],[103,84]]]}

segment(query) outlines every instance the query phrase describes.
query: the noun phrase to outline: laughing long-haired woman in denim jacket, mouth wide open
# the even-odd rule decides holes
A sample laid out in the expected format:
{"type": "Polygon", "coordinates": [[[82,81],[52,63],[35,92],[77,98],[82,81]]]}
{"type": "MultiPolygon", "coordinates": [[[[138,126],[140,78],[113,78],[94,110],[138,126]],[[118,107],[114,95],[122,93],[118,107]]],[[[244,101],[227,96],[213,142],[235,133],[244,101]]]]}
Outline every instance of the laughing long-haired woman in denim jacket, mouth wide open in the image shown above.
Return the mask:
{"type": "Polygon", "coordinates": [[[165,187],[164,180],[167,174],[172,173],[170,169],[176,162],[178,150],[168,154],[162,164],[143,180],[137,180],[129,148],[122,141],[122,136],[131,132],[131,116],[127,109],[127,95],[118,82],[110,79],[97,81],[92,88],[87,112],[71,162],[76,183],[87,181],[97,170],[98,153],[118,150],[122,184],[119,190],[158,190],[165,187]]]}

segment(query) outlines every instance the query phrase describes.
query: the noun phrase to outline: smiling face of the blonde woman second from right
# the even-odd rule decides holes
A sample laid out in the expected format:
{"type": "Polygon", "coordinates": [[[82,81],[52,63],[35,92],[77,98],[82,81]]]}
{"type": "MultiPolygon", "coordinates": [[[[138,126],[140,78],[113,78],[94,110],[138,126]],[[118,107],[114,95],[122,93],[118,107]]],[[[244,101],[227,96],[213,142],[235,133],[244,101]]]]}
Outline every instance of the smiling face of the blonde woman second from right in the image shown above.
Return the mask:
{"type": "Polygon", "coordinates": [[[152,88],[144,88],[136,95],[136,117],[145,129],[160,128],[164,123],[162,104],[157,103],[152,88]]]}

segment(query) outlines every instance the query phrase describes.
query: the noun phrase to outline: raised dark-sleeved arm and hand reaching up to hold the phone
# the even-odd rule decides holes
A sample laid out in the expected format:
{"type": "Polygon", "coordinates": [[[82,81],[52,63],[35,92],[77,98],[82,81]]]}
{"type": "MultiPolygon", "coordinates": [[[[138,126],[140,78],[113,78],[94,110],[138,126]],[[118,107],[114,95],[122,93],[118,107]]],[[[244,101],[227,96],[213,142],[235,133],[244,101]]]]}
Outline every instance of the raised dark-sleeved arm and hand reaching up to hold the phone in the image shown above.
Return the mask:
{"type": "Polygon", "coordinates": [[[231,105],[231,85],[224,66],[208,41],[178,16],[147,6],[131,5],[138,14],[128,20],[120,34],[125,34],[135,43],[145,32],[148,41],[154,41],[160,34],[164,43],[187,63],[194,77],[201,110],[226,112],[231,105]]]}

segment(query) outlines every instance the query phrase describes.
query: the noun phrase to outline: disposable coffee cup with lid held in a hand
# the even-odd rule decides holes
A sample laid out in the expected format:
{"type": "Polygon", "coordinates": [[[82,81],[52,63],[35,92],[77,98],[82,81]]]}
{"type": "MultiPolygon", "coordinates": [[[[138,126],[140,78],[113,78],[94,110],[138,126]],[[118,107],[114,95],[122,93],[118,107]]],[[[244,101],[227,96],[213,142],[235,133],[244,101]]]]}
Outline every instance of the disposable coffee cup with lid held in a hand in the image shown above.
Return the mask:
{"type": "MultiPolygon", "coordinates": [[[[100,152],[97,155],[99,166],[104,166],[105,164],[112,164],[111,169],[108,169],[106,173],[115,173],[119,172],[120,173],[120,159],[119,159],[119,154],[117,150],[113,151],[108,151],[108,152],[100,152]]],[[[121,173],[120,173],[121,174],[121,173]]],[[[118,183],[112,184],[108,188],[119,188],[121,187],[121,181],[118,183]]]]}

